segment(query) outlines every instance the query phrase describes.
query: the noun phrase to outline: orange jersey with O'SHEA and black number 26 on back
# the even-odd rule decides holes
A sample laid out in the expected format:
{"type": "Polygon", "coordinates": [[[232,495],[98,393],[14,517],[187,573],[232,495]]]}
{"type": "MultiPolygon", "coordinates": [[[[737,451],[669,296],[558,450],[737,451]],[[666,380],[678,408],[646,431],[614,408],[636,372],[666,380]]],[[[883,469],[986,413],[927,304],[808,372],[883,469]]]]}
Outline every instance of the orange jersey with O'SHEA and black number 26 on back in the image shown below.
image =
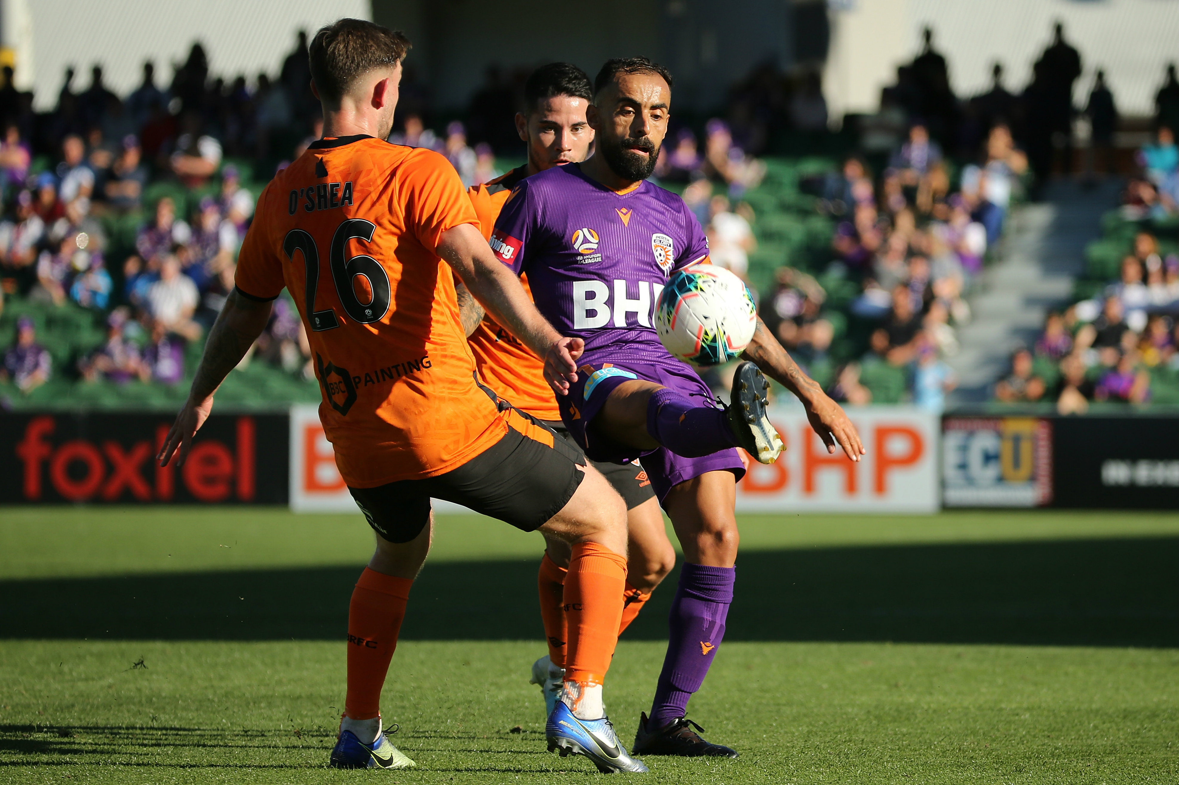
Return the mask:
{"type": "Polygon", "coordinates": [[[446,158],[365,136],[311,144],[258,199],[237,286],[290,290],[349,486],[443,474],[507,433],[436,252],[444,231],[477,223],[446,158]]]}

